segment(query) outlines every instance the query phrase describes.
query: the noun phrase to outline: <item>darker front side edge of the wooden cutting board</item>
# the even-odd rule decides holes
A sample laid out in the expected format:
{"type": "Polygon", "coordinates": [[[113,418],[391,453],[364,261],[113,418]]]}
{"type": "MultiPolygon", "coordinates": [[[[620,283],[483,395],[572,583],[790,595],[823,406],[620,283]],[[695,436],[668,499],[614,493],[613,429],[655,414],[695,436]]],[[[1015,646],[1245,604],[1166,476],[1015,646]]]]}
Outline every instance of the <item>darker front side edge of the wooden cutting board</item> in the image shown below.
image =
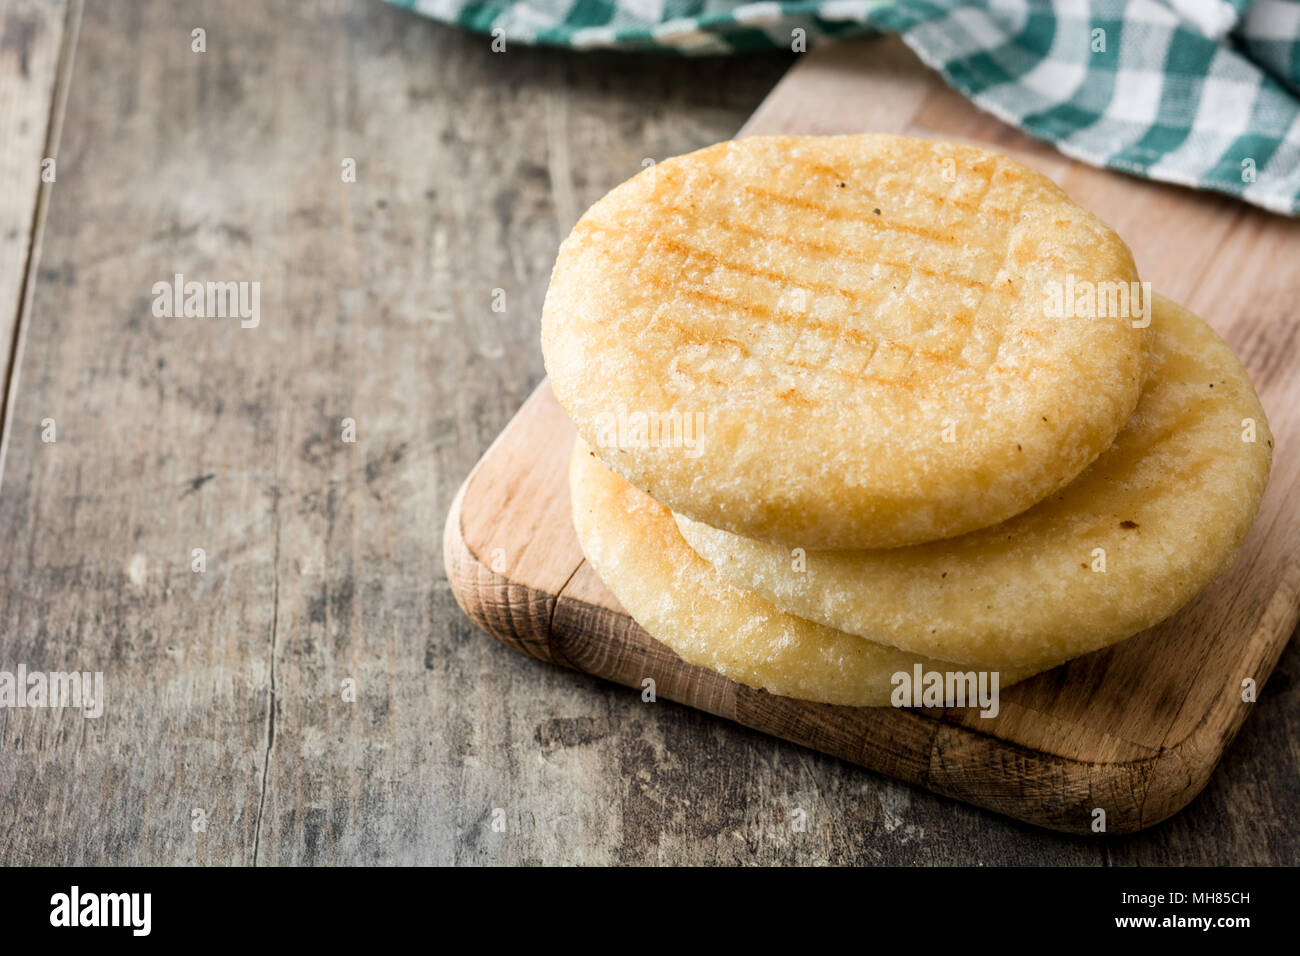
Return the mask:
{"type": "MultiPolygon", "coordinates": [[[[463,533],[462,510],[465,494],[472,493],[481,470],[493,467],[502,440],[517,420],[525,416],[536,402],[545,401],[546,389],[547,381],[543,378],[502,434],[491,442],[456,493],[443,529],[447,580],[456,602],[469,619],[507,646],[549,663],[559,663],[636,688],[637,680],[612,676],[610,669],[602,666],[608,658],[601,648],[592,646],[590,635],[566,636],[563,627],[564,620],[577,615],[588,622],[604,622],[601,632],[607,639],[612,635],[621,640],[625,648],[653,644],[649,637],[644,637],[640,643],[627,640],[623,635],[624,628],[636,627],[630,619],[625,619],[624,614],[611,607],[567,597],[564,594],[567,584],[560,587],[558,593],[551,593],[514,580],[507,568],[502,568],[500,572],[493,571],[471,549],[463,533]]],[[[1256,648],[1253,659],[1243,662],[1256,675],[1260,685],[1271,672],[1287,644],[1275,637],[1275,631],[1284,627],[1282,618],[1294,623],[1300,610],[1287,598],[1288,594],[1300,591],[1300,561],[1295,562],[1290,571],[1284,580],[1278,583],[1269,598],[1269,611],[1256,627],[1256,640],[1252,641],[1256,648]]],[[[572,581],[580,574],[592,574],[585,562],[575,566],[568,580],[572,581]]],[[[578,592],[582,589],[578,588],[578,592]]],[[[1290,633],[1290,630],[1286,632],[1290,633]]],[[[693,670],[689,665],[673,659],[676,661],[673,670],[684,674],[693,670]]],[[[670,669],[662,669],[660,672],[670,672],[670,669]]],[[[858,754],[845,752],[842,747],[827,747],[819,741],[784,734],[780,726],[760,719],[762,713],[771,711],[770,706],[753,708],[750,711],[742,706],[749,695],[763,693],[760,691],[742,688],[722,678],[718,678],[722,683],[716,687],[698,675],[686,680],[688,687],[682,687],[680,692],[668,691],[663,696],[814,750],[831,753],[858,766],[923,786],[937,793],[1067,832],[1088,832],[1089,810],[1095,806],[1108,810],[1108,831],[1114,834],[1141,830],[1176,814],[1204,790],[1249,711],[1247,706],[1236,706],[1231,693],[1225,692],[1182,740],[1166,741],[1150,756],[1093,762],[998,737],[952,719],[948,711],[927,711],[923,718],[933,723],[935,728],[919,761],[924,769],[904,773],[898,766],[881,766],[880,761],[871,760],[874,754],[870,750],[858,754]],[[1235,713],[1225,713],[1228,710],[1235,713]],[[758,719],[746,719],[748,713],[758,714],[758,719]],[[1223,719],[1212,726],[1216,714],[1223,719]],[[965,763],[949,766],[948,754],[954,752],[966,754],[965,763]],[[978,756],[972,756],[972,752],[978,756]],[[968,766],[971,761],[982,767],[1017,766],[1020,771],[1014,775],[994,771],[972,774],[968,766]],[[1030,809],[1024,813],[1011,813],[1009,805],[1030,809]]]]}

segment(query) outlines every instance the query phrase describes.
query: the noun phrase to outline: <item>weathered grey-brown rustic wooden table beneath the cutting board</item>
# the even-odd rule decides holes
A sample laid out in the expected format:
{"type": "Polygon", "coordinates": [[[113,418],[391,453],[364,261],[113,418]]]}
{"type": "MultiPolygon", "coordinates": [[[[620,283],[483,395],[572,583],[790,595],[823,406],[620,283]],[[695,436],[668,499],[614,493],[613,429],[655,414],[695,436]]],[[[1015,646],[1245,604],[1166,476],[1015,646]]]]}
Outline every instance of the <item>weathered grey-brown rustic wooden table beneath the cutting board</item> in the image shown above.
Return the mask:
{"type": "Polygon", "coordinates": [[[542,376],[558,242],[788,57],[493,53],[372,0],[3,9],[0,670],[103,671],[105,709],[0,709],[0,862],[1300,858],[1295,644],[1184,813],[1075,839],[455,606],[442,520],[542,376]],[[155,315],[176,273],[259,282],[257,328],[155,315]]]}

